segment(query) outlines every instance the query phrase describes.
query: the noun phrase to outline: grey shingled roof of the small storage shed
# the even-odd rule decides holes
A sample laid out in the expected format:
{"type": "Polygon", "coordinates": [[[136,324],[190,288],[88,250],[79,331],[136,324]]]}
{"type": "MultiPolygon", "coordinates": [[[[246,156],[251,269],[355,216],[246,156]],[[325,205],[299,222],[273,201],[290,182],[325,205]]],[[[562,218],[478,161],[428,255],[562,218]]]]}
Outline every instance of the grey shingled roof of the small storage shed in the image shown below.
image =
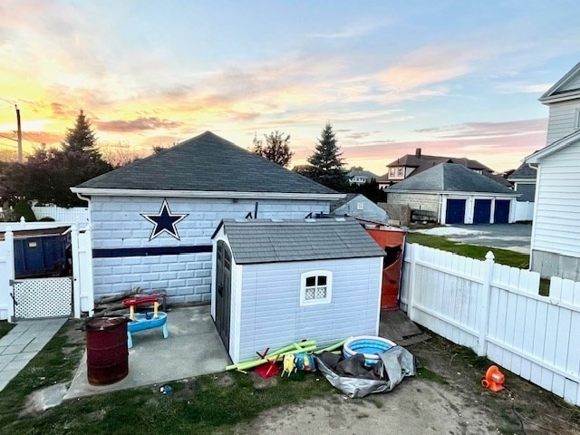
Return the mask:
{"type": "Polygon", "coordinates": [[[353,219],[225,219],[213,237],[221,227],[238,265],[384,256],[353,219]]]}

